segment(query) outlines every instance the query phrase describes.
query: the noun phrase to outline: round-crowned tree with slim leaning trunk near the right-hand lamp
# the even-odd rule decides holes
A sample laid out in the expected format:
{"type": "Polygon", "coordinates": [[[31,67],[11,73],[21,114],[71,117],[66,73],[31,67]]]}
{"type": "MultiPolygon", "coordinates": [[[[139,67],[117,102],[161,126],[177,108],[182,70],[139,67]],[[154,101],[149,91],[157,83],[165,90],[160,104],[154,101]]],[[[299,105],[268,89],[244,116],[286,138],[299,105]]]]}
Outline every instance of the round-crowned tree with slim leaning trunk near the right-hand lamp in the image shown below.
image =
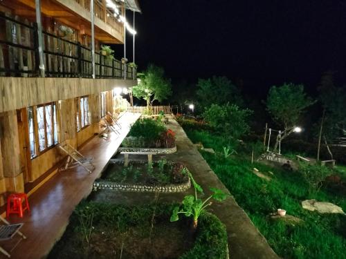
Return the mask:
{"type": "Polygon", "coordinates": [[[278,124],[284,126],[281,135],[277,135],[274,151],[277,150],[279,141],[288,137],[297,126],[305,109],[314,101],[304,93],[302,84],[283,84],[272,86],[266,100],[266,108],[278,124]]]}

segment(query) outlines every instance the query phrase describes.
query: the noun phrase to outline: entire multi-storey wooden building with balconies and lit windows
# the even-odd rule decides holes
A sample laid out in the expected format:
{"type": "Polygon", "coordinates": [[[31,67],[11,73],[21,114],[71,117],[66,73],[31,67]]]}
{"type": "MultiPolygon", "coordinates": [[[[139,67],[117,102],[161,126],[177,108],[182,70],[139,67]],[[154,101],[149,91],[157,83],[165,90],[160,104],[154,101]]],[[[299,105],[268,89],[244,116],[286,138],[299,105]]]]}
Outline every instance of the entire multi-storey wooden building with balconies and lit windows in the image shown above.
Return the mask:
{"type": "Polygon", "coordinates": [[[139,12],[137,1],[94,0],[95,79],[91,0],[38,1],[44,76],[36,2],[0,1],[0,206],[8,193],[35,191],[56,173],[66,158],[58,145],[78,148],[100,133],[100,118],[116,111],[115,89],[137,84],[136,68],[99,51],[101,44],[124,43],[117,16],[139,12]]]}

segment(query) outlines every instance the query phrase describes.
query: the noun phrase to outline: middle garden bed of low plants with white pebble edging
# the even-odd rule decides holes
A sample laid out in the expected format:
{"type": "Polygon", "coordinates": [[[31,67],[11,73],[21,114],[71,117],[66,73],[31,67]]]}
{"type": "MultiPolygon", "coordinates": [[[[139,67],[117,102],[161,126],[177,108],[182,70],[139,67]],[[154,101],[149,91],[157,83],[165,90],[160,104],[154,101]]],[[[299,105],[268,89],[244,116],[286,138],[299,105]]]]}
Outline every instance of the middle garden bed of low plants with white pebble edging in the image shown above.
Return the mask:
{"type": "Polygon", "coordinates": [[[111,162],[102,177],[93,183],[93,191],[135,191],[177,193],[191,186],[188,169],[183,164],[160,160],[152,164],[111,162]]]}

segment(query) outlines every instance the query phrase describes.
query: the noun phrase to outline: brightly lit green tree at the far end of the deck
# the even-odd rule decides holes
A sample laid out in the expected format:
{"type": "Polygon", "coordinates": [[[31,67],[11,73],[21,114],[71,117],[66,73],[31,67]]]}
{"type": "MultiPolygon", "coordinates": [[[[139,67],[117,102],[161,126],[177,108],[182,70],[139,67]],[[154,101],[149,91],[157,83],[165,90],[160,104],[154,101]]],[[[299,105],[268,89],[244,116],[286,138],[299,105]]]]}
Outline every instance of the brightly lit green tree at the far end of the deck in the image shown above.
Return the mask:
{"type": "Polygon", "coordinates": [[[172,94],[170,79],[165,78],[163,68],[150,64],[144,73],[140,74],[140,83],[132,88],[137,98],[147,101],[147,109],[151,111],[155,100],[162,102],[172,94]]]}

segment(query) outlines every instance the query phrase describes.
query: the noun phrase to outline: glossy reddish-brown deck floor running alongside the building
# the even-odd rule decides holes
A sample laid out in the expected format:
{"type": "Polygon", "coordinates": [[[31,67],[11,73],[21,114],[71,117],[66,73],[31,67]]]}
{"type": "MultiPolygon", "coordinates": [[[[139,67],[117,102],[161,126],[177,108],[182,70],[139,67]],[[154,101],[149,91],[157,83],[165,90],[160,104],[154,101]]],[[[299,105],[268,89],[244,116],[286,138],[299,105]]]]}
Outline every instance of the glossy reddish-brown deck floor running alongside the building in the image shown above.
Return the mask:
{"type": "MultiPolygon", "coordinates": [[[[10,216],[11,223],[24,222],[21,231],[28,237],[12,251],[11,258],[36,259],[47,255],[64,233],[73,209],[80,200],[89,195],[93,181],[98,178],[127,135],[129,124],[135,122],[139,116],[138,113],[125,113],[120,118],[120,136],[111,133],[107,140],[95,136],[80,149],[86,157],[93,157],[93,173],[89,174],[82,166],[57,173],[30,195],[28,200],[31,213],[24,213],[24,218],[10,216]]],[[[15,241],[17,238],[10,242],[0,242],[0,245],[9,251],[15,241]]],[[[1,254],[0,258],[6,257],[1,254]]]]}

